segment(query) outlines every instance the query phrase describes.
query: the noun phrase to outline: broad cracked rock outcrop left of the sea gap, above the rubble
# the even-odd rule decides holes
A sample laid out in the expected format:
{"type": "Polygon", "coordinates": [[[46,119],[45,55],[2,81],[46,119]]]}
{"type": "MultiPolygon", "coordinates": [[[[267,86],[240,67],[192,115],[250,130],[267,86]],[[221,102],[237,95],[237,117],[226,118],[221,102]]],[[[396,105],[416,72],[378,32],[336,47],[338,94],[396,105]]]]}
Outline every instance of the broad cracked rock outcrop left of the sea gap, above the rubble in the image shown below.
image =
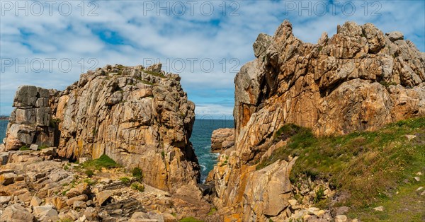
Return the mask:
{"type": "Polygon", "coordinates": [[[57,146],[59,156],[103,154],[143,170],[159,189],[196,184],[198,160],[189,141],[195,105],[180,76],[160,64],[106,66],[81,74],[63,91],[22,86],[16,93],[6,151],[30,144],[57,146]]]}

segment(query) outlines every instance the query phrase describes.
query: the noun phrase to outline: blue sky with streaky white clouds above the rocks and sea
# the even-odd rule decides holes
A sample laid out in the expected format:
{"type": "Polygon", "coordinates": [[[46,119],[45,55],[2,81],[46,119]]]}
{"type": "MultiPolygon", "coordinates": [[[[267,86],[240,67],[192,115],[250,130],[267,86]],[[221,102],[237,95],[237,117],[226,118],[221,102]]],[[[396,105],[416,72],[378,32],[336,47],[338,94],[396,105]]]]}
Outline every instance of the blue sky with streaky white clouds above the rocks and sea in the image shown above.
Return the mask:
{"type": "Polygon", "coordinates": [[[63,90],[87,69],[161,61],[182,76],[197,117],[230,119],[233,79],[254,59],[252,43],[285,19],[305,42],[355,21],[399,30],[425,50],[425,1],[49,2],[1,1],[1,115],[20,85],[63,90]]]}

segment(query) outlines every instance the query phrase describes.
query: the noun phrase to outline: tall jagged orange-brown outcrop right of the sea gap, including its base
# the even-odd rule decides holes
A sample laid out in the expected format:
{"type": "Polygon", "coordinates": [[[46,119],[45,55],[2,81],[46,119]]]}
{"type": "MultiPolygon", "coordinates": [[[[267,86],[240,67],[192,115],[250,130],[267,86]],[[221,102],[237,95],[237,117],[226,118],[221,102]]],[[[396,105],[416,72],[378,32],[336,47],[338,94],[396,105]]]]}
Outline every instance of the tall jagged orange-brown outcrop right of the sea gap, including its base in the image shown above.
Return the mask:
{"type": "Polygon", "coordinates": [[[256,170],[256,163],[285,146],[273,138],[283,125],[309,127],[316,135],[347,134],[425,115],[425,53],[402,33],[384,35],[372,24],[347,22],[314,45],[298,40],[285,21],[273,37],[259,35],[254,55],[234,78],[234,147],[220,155],[207,178],[224,221],[329,215],[290,204],[294,192],[314,193],[288,186],[292,162],[256,170]],[[273,179],[276,169],[279,180],[273,179]]]}

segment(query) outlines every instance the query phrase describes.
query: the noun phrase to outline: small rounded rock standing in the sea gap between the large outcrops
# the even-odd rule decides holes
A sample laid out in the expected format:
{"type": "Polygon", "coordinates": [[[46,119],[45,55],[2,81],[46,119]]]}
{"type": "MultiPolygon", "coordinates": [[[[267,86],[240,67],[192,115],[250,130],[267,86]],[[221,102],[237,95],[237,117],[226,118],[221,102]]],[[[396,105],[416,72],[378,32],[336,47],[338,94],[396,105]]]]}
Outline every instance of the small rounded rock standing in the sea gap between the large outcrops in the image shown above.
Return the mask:
{"type": "Polygon", "coordinates": [[[211,136],[211,150],[222,151],[234,146],[234,129],[215,129],[211,136]]]}

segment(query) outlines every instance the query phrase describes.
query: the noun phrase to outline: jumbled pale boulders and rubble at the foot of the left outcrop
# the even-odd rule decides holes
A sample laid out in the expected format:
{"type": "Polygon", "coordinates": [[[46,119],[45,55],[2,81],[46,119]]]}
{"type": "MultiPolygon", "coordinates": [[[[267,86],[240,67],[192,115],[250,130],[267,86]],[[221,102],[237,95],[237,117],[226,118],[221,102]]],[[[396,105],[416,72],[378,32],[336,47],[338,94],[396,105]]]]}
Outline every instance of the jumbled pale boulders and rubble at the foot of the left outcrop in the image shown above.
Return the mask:
{"type": "Polygon", "coordinates": [[[84,165],[45,158],[42,151],[6,153],[13,154],[0,166],[0,176],[13,174],[13,180],[0,184],[0,221],[131,221],[136,213],[177,221],[203,219],[211,208],[197,187],[179,186],[171,193],[140,182],[123,168],[96,170],[88,177],[84,165]],[[125,177],[130,183],[123,182],[125,177]],[[135,181],[145,186],[144,192],[132,188],[135,181]]]}

